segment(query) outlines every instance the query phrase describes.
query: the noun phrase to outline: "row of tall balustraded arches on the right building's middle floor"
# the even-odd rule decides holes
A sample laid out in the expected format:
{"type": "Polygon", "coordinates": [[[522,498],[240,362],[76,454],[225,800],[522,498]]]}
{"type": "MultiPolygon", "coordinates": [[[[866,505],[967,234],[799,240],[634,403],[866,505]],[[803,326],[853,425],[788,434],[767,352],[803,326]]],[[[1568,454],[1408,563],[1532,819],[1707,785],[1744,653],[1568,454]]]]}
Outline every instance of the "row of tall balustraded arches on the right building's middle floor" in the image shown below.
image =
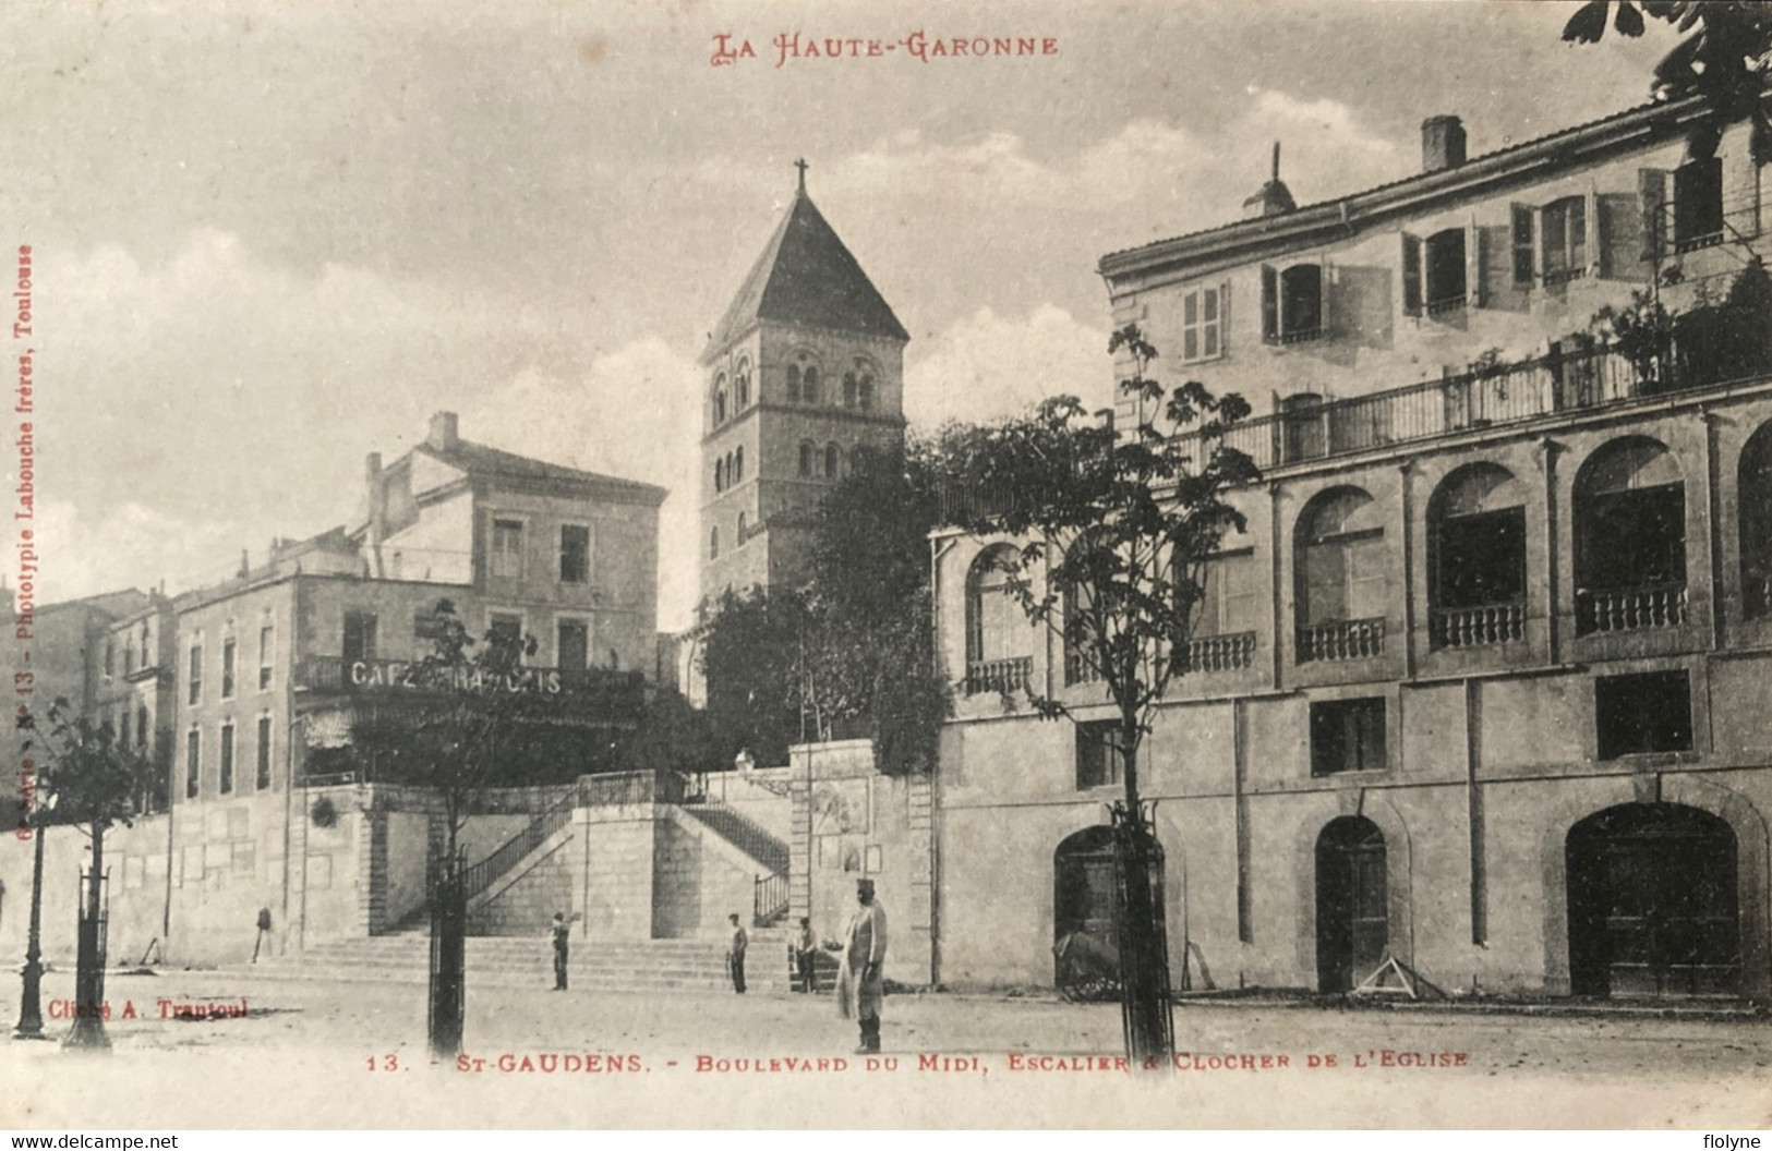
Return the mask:
{"type": "MultiPolygon", "coordinates": [[[[1501,464],[1473,462],[1446,476],[1426,508],[1428,636],[1434,648],[1524,639],[1531,492],[1501,464]]],[[[1772,614],[1772,425],[1761,427],[1737,469],[1742,602],[1749,618],[1772,614]]],[[[1356,659],[1384,650],[1396,542],[1393,512],[1368,491],[1318,492],[1292,533],[1299,662],[1356,659]]],[[[1648,436],[1602,444],[1575,473],[1572,521],[1575,632],[1675,627],[1687,620],[1687,491],[1680,460],[1648,436]]],[[[1253,542],[1226,540],[1203,565],[1203,609],[1194,636],[1253,636],[1263,572],[1253,542]],[[1246,544],[1246,545],[1242,545],[1246,544]]],[[[985,549],[966,581],[969,666],[1024,659],[1033,629],[1003,590],[1019,552],[985,549]]],[[[1542,609],[1542,607],[1540,607],[1542,609]]],[[[1067,653],[1067,657],[1072,653],[1067,653]]],[[[1070,660],[1074,662],[1074,660],[1070,660]]]]}

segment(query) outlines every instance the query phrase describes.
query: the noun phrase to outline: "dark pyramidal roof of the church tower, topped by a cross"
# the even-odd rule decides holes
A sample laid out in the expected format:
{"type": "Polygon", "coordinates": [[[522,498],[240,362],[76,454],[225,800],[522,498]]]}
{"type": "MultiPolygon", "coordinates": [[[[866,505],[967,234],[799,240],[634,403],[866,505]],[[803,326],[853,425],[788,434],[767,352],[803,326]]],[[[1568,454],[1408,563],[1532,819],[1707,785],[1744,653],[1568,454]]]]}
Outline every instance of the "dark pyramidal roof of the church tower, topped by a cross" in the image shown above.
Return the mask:
{"type": "Polygon", "coordinates": [[[781,218],[744,287],[719,319],[703,359],[750,331],[758,321],[831,328],[909,340],[891,306],[861,271],[824,214],[806,195],[801,166],[794,205],[781,218]]]}

